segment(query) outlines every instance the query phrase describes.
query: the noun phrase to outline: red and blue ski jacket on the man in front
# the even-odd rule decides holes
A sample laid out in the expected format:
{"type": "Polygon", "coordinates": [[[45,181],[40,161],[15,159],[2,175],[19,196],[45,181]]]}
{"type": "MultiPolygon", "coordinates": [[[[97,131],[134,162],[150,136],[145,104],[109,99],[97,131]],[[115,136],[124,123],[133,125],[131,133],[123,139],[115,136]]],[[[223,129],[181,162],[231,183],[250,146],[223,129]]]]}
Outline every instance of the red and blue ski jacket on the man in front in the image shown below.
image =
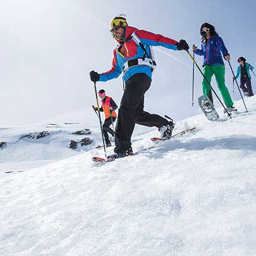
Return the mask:
{"type": "MultiPolygon", "coordinates": [[[[141,40],[141,43],[145,47],[148,56],[151,56],[150,46],[163,46],[168,49],[178,50],[176,46],[178,42],[171,38],[163,37],[163,35],[159,34],[153,34],[145,30],[139,30],[132,26],[126,26],[125,41],[121,42],[117,40],[120,44],[114,49],[112,68],[108,72],[101,73],[99,81],[105,82],[114,78],[118,78],[118,76],[121,75],[123,66],[127,61],[130,59],[144,57],[144,49],[142,49],[142,47],[132,39],[132,33],[134,31],[136,31],[136,36],[139,38],[139,40],[141,40]]],[[[150,66],[144,65],[129,67],[129,69],[124,73],[124,82],[126,82],[136,73],[145,73],[151,78],[152,69],[150,66]]]]}

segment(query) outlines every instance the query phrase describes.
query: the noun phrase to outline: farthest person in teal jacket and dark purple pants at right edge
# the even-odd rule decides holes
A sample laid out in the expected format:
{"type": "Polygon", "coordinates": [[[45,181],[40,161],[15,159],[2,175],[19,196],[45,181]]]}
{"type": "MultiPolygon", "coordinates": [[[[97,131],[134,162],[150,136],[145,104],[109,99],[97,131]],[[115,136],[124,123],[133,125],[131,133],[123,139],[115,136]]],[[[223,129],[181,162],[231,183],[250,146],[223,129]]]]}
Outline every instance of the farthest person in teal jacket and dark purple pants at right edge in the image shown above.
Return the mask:
{"type": "Polygon", "coordinates": [[[240,77],[240,88],[242,89],[243,94],[246,97],[251,97],[254,96],[254,93],[252,92],[250,69],[254,70],[254,67],[252,67],[251,64],[245,61],[246,59],[243,57],[237,59],[237,62],[239,62],[239,66],[237,67],[236,79],[240,77]]]}

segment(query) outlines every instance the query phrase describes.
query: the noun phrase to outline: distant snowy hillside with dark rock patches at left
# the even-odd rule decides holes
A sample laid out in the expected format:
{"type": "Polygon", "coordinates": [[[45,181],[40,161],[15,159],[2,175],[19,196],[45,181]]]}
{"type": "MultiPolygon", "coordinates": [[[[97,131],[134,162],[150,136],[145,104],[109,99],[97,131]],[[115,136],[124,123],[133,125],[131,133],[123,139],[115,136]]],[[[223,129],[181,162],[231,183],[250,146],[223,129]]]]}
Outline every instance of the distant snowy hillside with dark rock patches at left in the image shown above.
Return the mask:
{"type": "Polygon", "coordinates": [[[100,131],[93,124],[58,123],[0,127],[0,143],[7,142],[5,148],[0,148],[0,177],[2,172],[24,171],[91,150],[97,142],[100,143],[96,138],[100,138],[100,131]],[[88,127],[90,134],[74,134],[88,127]],[[31,133],[36,136],[40,132],[47,132],[49,135],[40,139],[22,138],[31,133]],[[78,147],[76,150],[70,149],[70,141],[81,141],[83,138],[93,139],[93,143],[87,147],[78,147]]]}

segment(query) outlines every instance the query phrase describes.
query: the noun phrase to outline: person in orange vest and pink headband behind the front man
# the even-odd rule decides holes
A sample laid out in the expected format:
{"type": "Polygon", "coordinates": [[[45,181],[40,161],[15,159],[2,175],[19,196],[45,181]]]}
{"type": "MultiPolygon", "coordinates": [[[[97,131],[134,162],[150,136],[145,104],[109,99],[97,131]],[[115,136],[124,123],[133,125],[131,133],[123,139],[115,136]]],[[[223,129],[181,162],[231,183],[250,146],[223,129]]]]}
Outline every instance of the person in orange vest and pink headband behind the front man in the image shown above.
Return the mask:
{"type": "MultiPolygon", "coordinates": [[[[115,122],[117,119],[117,114],[115,113],[115,109],[117,109],[117,104],[115,104],[114,100],[106,96],[106,92],[104,90],[100,90],[98,93],[100,99],[102,100],[102,107],[100,108],[101,112],[105,114],[105,121],[103,123],[103,135],[106,142],[106,147],[111,147],[111,142],[109,141],[108,132],[114,137],[115,132],[109,126],[115,122]]],[[[97,107],[93,106],[94,110],[98,110],[97,107]]]]}

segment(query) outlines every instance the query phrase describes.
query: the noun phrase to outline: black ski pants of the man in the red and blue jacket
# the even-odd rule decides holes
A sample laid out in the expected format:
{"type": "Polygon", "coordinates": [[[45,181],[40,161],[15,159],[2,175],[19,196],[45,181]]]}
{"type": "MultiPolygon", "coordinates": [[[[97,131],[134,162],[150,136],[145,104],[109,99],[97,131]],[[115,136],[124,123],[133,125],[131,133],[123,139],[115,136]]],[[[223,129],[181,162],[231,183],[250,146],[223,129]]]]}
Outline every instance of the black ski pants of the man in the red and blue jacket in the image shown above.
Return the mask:
{"type": "Polygon", "coordinates": [[[115,153],[125,153],[131,148],[135,123],[158,128],[168,123],[160,115],[144,111],[144,94],[150,84],[151,79],[145,73],[137,73],[126,82],[115,127],[115,153]]]}

